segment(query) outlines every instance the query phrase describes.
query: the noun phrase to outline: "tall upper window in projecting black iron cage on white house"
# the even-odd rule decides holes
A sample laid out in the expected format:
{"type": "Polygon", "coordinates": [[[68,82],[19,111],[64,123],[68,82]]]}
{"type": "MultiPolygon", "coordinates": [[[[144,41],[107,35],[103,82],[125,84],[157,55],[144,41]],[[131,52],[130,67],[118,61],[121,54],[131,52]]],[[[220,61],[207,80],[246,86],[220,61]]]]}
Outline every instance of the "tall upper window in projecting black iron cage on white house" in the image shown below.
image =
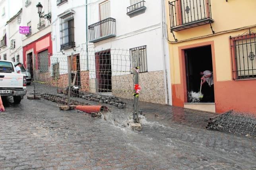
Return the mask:
{"type": "Polygon", "coordinates": [[[60,50],[76,47],[74,28],[73,13],[60,17],[60,50]]]}

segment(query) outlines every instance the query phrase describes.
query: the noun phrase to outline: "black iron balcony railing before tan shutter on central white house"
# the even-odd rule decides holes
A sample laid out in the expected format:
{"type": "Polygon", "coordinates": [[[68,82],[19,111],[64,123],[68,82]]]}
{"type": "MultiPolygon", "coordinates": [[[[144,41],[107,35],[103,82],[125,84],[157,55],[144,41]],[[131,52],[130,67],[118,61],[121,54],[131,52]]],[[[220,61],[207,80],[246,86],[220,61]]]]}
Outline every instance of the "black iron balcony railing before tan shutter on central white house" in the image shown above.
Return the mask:
{"type": "Polygon", "coordinates": [[[89,42],[99,42],[116,36],[116,19],[107,18],[88,26],[89,42]]]}

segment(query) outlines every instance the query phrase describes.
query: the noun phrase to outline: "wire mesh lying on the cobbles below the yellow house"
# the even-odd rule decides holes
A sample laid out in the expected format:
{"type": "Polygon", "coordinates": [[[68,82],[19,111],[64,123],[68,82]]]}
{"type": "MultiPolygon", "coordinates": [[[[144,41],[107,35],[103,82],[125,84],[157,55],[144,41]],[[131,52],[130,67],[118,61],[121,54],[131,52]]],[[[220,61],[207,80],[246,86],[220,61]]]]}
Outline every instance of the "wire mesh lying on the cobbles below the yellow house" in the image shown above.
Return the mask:
{"type": "Polygon", "coordinates": [[[210,118],[207,129],[256,136],[256,116],[236,111],[210,118]]]}

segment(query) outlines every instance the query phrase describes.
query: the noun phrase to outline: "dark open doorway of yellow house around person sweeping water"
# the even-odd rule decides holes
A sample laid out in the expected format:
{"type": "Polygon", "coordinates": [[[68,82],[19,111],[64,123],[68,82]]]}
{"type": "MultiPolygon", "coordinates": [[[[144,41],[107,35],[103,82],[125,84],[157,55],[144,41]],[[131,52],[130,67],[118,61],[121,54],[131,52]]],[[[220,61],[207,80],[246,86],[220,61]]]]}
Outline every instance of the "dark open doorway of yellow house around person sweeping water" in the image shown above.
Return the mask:
{"type": "MultiPolygon", "coordinates": [[[[186,61],[186,85],[187,93],[199,92],[201,77],[200,71],[211,71],[213,73],[211,46],[203,46],[185,50],[186,61]]],[[[213,74],[212,74],[213,75],[213,74]]],[[[204,97],[200,100],[202,103],[214,103],[213,86],[209,86],[207,82],[202,85],[202,94],[204,97]]],[[[190,103],[188,98],[188,103],[190,103]]]]}

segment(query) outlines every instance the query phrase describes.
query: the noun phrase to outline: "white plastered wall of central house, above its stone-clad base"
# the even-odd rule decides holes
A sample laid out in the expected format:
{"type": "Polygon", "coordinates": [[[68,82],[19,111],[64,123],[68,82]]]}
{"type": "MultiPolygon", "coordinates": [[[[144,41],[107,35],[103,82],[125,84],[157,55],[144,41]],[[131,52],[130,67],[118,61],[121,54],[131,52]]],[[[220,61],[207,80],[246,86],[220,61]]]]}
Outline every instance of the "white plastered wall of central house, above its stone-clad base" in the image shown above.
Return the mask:
{"type": "MultiPolygon", "coordinates": [[[[99,22],[99,4],[104,1],[105,0],[88,0],[88,25],[99,22]]],[[[160,0],[145,1],[147,8],[145,13],[130,18],[126,15],[127,7],[130,6],[130,0],[111,0],[111,17],[116,19],[116,37],[97,43],[88,43],[89,70],[95,71],[95,52],[106,49],[116,49],[111,51],[112,54],[116,54],[114,57],[122,56],[125,57],[125,60],[127,59],[127,61],[119,59],[119,63],[115,63],[117,58],[114,58],[115,61],[112,59],[112,64],[116,66],[114,68],[115,70],[120,70],[121,68],[118,68],[120,65],[129,66],[130,63],[127,58],[130,55],[129,49],[139,46],[147,46],[147,70],[149,72],[162,71],[164,69],[163,58],[165,57],[168,61],[169,58],[168,44],[167,42],[163,43],[162,4],[160,0]],[[125,54],[120,55],[120,53],[125,54]]],[[[66,55],[72,52],[78,53],[78,51],[83,51],[82,53],[80,52],[80,64],[81,70],[86,70],[85,33],[87,28],[85,27],[85,0],[68,0],[67,3],[61,6],[56,6],[56,2],[52,1],[52,12],[53,55],[55,57],[62,56],[62,58],[66,58],[66,55]],[[76,52],[74,52],[73,49],[63,50],[63,53],[65,53],[65,55],[63,55],[62,52],[60,52],[60,23],[57,15],[69,9],[76,12],[74,14],[76,52]]],[[[124,68],[122,67],[122,69],[124,68]]],[[[126,67],[126,69],[126,74],[130,74],[130,67],[126,67]]],[[[66,73],[65,70],[67,71],[66,65],[60,63],[60,72],[64,74],[66,73]]],[[[167,73],[169,73],[169,67],[166,68],[166,70],[167,73]]],[[[90,72],[90,78],[95,78],[93,71],[90,72]]],[[[112,73],[116,74],[114,72],[112,73]]],[[[169,89],[169,98],[171,99],[170,92],[171,90],[169,89]]]]}

